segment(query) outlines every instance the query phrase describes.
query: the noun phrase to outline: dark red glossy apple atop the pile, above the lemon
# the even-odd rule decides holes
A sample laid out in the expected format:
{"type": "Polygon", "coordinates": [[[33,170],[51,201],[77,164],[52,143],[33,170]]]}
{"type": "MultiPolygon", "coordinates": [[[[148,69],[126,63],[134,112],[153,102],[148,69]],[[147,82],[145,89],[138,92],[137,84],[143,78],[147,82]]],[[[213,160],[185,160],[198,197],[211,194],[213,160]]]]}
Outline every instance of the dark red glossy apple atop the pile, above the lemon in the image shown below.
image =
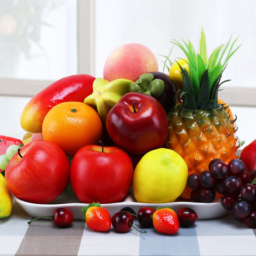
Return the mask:
{"type": "Polygon", "coordinates": [[[126,93],[109,111],[106,125],[116,145],[133,155],[162,147],[169,131],[161,103],[139,92],[126,93]]]}

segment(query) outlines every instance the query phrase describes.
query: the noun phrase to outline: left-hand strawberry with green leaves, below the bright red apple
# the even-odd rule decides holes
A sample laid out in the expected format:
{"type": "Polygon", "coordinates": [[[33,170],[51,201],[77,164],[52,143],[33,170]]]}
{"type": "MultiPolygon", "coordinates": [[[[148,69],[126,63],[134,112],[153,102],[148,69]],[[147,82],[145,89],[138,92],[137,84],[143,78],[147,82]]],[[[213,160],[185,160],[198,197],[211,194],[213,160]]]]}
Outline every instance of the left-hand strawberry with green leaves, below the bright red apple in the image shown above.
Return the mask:
{"type": "Polygon", "coordinates": [[[94,231],[108,231],[111,227],[110,213],[99,203],[92,203],[82,208],[83,219],[87,226],[94,231]]]}

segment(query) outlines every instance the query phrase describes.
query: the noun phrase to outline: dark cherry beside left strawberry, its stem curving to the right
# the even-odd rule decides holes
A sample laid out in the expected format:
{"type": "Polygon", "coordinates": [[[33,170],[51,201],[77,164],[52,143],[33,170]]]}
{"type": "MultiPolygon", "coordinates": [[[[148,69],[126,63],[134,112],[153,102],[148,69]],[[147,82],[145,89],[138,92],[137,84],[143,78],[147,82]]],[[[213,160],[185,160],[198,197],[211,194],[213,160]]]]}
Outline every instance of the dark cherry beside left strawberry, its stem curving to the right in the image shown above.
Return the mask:
{"type": "Polygon", "coordinates": [[[133,215],[130,212],[117,212],[113,215],[112,226],[118,232],[128,232],[132,227],[141,233],[147,233],[147,231],[140,231],[133,226],[133,215]]]}

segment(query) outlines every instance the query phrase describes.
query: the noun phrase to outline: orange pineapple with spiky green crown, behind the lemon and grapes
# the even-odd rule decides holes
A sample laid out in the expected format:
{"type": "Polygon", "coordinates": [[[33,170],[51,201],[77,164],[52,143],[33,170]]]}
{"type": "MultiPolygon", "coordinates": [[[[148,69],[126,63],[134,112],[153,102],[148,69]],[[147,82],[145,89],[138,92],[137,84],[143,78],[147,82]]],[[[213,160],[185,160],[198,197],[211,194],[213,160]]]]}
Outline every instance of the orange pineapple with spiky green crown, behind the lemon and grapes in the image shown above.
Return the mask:
{"type": "MultiPolygon", "coordinates": [[[[209,60],[206,58],[203,30],[200,52],[197,54],[190,42],[183,41],[185,48],[178,41],[173,41],[186,54],[189,72],[180,66],[183,78],[182,104],[168,114],[169,135],[166,147],[183,157],[188,165],[188,175],[208,170],[213,158],[221,158],[228,163],[238,157],[235,120],[231,120],[226,108],[218,103],[219,86],[226,82],[220,83],[222,72],[228,59],[239,48],[232,51],[236,40],[231,44],[224,63],[221,63],[221,59],[231,38],[223,51],[222,45],[213,51],[209,60]]],[[[181,197],[190,198],[190,191],[187,186],[181,197]]]]}

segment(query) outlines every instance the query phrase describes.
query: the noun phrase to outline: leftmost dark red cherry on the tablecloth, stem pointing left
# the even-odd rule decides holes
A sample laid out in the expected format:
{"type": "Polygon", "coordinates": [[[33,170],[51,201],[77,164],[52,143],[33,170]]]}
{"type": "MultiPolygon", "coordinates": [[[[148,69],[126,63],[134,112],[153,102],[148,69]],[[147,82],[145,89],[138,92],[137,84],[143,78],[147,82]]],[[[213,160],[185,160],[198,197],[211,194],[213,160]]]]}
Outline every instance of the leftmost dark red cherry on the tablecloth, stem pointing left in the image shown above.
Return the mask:
{"type": "Polygon", "coordinates": [[[46,217],[53,218],[53,223],[57,227],[68,227],[74,221],[74,215],[69,209],[67,209],[66,207],[59,207],[54,210],[53,215],[38,217],[28,221],[27,223],[30,224],[34,220],[46,217]]]}

